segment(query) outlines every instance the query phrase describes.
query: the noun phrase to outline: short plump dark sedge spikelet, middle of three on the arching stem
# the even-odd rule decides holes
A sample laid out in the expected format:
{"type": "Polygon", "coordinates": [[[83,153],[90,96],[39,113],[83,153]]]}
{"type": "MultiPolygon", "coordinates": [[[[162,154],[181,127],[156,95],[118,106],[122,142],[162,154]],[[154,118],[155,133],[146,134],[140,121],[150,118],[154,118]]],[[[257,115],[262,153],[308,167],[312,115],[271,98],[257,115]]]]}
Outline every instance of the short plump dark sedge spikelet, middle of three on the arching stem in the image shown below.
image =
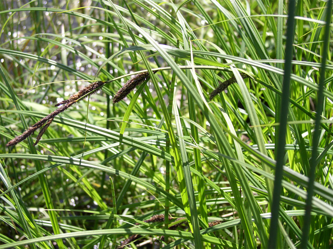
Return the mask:
{"type": "MultiPolygon", "coordinates": [[[[154,73],[156,73],[156,72],[157,71],[155,71],[154,73]]],[[[136,88],[137,86],[142,84],[144,81],[148,80],[149,78],[150,78],[150,76],[149,76],[148,72],[136,74],[133,78],[128,80],[121,89],[118,90],[118,92],[115,94],[115,96],[112,99],[113,104],[116,104],[116,103],[122,101],[123,99],[125,99],[125,97],[130,92],[132,92],[134,90],[134,88],[136,88]]]]}

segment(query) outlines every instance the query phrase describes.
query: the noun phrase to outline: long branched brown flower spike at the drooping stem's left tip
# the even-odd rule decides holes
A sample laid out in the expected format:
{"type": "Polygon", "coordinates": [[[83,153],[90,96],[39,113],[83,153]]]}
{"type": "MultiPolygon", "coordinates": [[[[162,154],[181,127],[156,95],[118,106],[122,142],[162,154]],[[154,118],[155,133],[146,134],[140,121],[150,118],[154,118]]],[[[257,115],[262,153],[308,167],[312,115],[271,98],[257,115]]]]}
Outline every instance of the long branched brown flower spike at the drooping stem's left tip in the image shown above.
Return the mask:
{"type": "Polygon", "coordinates": [[[64,100],[60,103],[58,103],[55,106],[60,106],[57,110],[53,111],[49,115],[47,115],[45,118],[42,118],[40,121],[38,121],[36,124],[30,126],[26,131],[24,131],[21,135],[16,136],[14,139],[10,140],[6,146],[14,146],[15,144],[18,144],[19,142],[22,142],[24,139],[32,135],[37,129],[41,128],[44,124],[44,127],[40,130],[36,142],[34,145],[36,145],[39,140],[41,139],[42,135],[46,131],[46,129],[49,127],[49,125],[52,123],[54,117],[56,117],[58,114],[66,111],[70,106],[75,104],[76,102],[79,102],[83,100],[85,97],[88,97],[92,94],[94,94],[96,91],[100,89],[103,84],[105,84],[105,81],[96,81],[88,85],[87,87],[80,90],[77,94],[71,95],[67,100],[64,100]]]}

